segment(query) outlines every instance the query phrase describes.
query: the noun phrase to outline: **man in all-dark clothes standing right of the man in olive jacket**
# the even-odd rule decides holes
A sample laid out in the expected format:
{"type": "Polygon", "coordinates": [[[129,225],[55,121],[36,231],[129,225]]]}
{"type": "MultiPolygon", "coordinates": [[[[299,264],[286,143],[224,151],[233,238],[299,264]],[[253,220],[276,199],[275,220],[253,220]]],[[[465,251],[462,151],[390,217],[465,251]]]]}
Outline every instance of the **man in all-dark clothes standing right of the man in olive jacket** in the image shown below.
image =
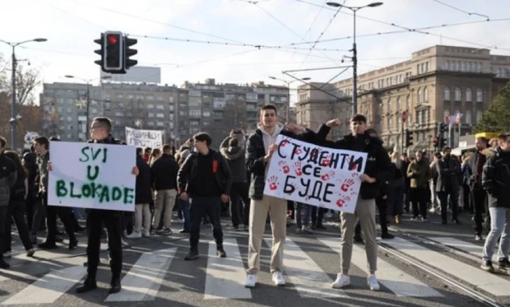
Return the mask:
{"type": "Polygon", "coordinates": [[[458,213],[458,191],[460,188],[460,162],[451,157],[450,147],[444,147],[443,158],[437,161],[436,168],[439,176],[437,177],[436,190],[441,204],[441,218],[443,225],[448,223],[448,200],[451,202],[451,220],[453,223],[460,224],[457,218],[458,213]]]}

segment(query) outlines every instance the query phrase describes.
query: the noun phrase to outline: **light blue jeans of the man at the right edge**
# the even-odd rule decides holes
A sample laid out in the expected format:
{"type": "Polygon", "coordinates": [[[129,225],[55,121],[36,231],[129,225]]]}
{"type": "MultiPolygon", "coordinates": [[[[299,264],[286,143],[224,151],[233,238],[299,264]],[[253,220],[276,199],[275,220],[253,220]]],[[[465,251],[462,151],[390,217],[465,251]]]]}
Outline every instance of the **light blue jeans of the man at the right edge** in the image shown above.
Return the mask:
{"type": "Polygon", "coordinates": [[[510,209],[508,208],[489,208],[490,213],[490,232],[483,246],[484,261],[492,261],[494,248],[497,238],[500,237],[500,248],[497,251],[498,260],[508,259],[510,247],[510,209]]]}

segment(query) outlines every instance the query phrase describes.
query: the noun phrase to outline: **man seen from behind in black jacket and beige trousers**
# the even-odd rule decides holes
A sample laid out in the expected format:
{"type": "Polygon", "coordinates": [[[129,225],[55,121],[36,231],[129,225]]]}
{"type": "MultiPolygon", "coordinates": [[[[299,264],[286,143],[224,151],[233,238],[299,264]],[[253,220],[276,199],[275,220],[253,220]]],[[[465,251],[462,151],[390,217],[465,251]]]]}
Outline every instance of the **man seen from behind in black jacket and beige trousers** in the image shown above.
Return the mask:
{"type": "Polygon", "coordinates": [[[154,188],[154,223],[152,229],[156,230],[163,211],[163,234],[172,234],[172,213],[177,197],[177,172],[179,165],[173,158],[172,147],[163,145],[161,157],[152,163],[152,188],[154,188]]]}

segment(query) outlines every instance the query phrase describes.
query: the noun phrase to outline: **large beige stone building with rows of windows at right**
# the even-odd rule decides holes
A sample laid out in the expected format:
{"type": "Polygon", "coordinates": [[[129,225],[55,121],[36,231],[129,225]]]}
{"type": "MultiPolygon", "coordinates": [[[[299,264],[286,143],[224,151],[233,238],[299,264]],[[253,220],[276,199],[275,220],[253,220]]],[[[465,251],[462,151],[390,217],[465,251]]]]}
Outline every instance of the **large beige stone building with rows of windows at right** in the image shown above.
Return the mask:
{"type": "MultiPolygon", "coordinates": [[[[408,61],[359,75],[358,112],[367,116],[387,146],[402,147],[405,130],[411,131],[411,151],[432,151],[438,123],[460,114],[451,135],[445,135],[456,147],[460,135],[472,133],[509,77],[510,57],[436,45],[413,52],[408,61]]],[[[352,78],[336,82],[335,88],[351,96],[352,78]]]]}

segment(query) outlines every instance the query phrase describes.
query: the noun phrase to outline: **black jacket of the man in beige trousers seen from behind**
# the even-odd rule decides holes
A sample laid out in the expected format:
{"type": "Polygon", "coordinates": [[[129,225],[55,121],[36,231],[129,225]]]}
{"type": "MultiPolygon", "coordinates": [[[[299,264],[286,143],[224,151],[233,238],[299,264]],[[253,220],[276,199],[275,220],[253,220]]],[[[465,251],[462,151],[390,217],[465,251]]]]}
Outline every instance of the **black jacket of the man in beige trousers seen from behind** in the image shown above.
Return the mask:
{"type": "Polygon", "coordinates": [[[163,153],[152,163],[152,187],[154,190],[177,190],[177,172],[179,165],[175,159],[163,153]]]}

